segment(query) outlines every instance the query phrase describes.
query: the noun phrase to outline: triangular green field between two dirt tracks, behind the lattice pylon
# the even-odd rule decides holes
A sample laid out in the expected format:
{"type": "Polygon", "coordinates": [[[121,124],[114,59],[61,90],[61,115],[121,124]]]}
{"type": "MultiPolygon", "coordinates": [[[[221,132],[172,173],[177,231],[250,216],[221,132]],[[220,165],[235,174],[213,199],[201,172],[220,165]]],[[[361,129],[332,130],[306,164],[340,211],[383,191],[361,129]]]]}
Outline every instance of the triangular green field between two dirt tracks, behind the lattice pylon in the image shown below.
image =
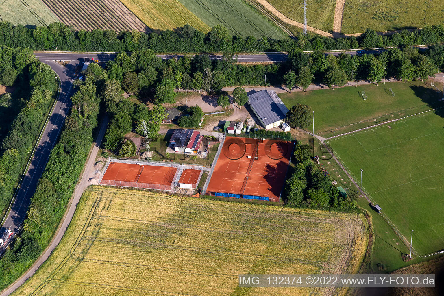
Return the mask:
{"type": "MultiPolygon", "coordinates": [[[[304,1],[267,0],[286,17],[304,24],[304,1]]],[[[336,0],[307,0],[307,25],[333,32],[336,0]]]]}

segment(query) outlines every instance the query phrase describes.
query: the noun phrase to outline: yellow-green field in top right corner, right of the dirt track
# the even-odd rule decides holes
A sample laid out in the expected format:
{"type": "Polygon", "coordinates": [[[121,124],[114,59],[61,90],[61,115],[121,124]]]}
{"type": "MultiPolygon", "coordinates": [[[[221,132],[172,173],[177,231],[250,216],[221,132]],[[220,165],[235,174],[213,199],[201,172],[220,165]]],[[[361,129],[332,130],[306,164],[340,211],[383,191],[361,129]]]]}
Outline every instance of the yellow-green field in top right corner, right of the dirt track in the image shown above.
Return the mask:
{"type": "Polygon", "coordinates": [[[347,0],[341,32],[360,33],[366,28],[376,31],[424,28],[426,25],[442,24],[443,12],[441,1],[347,0]]]}

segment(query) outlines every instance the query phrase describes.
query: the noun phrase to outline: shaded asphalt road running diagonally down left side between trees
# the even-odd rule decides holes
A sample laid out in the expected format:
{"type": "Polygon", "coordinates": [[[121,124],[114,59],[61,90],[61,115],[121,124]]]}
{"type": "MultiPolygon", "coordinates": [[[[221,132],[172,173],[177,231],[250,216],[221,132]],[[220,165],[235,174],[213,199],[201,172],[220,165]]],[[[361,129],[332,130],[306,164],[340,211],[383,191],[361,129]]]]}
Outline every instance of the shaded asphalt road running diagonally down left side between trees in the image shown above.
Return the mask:
{"type": "Polygon", "coordinates": [[[73,78],[72,71],[74,70],[75,65],[63,68],[59,63],[54,61],[44,60],[42,62],[51,66],[59,76],[61,82],[60,95],[52,110],[52,114],[50,114],[48,118],[46,127],[34,152],[30,166],[20,184],[20,188],[17,191],[11,211],[4,219],[2,228],[0,230],[2,232],[5,229],[11,228],[15,234],[20,225],[23,223],[26,212],[28,211],[30,199],[36,190],[36,186],[44,171],[46,163],[48,162],[49,154],[56,143],[66,114],[71,107],[70,97],[73,94],[71,79],[73,78]]]}

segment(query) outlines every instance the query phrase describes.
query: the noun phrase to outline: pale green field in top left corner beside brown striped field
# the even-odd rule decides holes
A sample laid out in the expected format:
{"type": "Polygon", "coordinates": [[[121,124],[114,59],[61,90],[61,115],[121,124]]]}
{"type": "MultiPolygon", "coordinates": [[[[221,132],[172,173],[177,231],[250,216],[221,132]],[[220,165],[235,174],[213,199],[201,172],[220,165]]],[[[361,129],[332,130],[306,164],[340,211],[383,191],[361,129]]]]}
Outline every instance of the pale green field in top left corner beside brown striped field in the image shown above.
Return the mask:
{"type": "Polygon", "coordinates": [[[46,27],[59,21],[41,0],[0,0],[0,16],[3,21],[24,26],[46,27]]]}

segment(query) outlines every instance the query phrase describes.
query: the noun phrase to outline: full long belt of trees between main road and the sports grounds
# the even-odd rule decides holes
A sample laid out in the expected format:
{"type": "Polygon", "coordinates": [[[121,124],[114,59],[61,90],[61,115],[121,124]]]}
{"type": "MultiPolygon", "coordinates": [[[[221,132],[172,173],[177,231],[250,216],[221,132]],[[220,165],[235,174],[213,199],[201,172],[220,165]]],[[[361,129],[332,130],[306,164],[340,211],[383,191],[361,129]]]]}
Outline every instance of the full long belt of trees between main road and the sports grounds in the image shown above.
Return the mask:
{"type": "MultiPolygon", "coordinates": [[[[428,79],[444,63],[444,45],[435,44],[427,50],[417,47],[390,48],[378,54],[325,55],[321,51],[306,54],[299,47],[289,51],[285,63],[244,65],[236,56],[224,53],[221,59],[208,55],[185,55],[163,60],[152,50],[131,54],[118,53],[106,64],[108,77],[117,81],[123,91],[156,104],[174,103],[175,90],[194,90],[219,96],[218,104],[230,101],[222,87],[285,84],[290,92],[299,86],[307,89],[313,81],[330,87],[342,86],[351,80],[379,83],[383,77],[403,80],[428,79]]],[[[242,106],[248,100],[241,87],[233,92],[234,103],[242,106]]]]}

